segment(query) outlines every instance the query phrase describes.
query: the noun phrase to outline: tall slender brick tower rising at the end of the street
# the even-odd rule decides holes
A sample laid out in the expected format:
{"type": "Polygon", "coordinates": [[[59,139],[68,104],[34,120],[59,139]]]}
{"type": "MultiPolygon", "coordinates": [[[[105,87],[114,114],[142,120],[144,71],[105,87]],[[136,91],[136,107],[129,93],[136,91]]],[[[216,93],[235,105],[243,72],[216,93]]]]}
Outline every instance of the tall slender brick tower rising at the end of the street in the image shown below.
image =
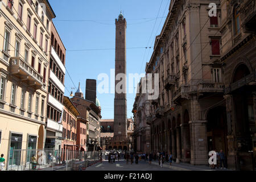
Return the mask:
{"type": "MultiPolygon", "coordinates": [[[[126,20],[122,13],[115,19],[115,77],[123,73],[126,75],[126,20]]],[[[119,81],[115,81],[115,86],[119,81]]],[[[117,93],[114,100],[114,137],[127,137],[127,101],[126,79],[125,93],[117,93]]]]}

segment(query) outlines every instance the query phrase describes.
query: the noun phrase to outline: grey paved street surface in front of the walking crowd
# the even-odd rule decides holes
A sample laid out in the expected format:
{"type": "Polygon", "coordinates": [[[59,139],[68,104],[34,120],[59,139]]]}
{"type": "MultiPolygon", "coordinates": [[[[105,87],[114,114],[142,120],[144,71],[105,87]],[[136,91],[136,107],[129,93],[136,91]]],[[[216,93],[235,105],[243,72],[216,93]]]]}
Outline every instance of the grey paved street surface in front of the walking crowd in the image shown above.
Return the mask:
{"type": "Polygon", "coordinates": [[[91,167],[86,168],[86,171],[174,171],[168,167],[160,168],[158,165],[148,164],[148,162],[140,161],[139,164],[126,164],[126,160],[120,160],[118,162],[110,164],[108,160],[102,163],[94,164],[91,167]]]}

